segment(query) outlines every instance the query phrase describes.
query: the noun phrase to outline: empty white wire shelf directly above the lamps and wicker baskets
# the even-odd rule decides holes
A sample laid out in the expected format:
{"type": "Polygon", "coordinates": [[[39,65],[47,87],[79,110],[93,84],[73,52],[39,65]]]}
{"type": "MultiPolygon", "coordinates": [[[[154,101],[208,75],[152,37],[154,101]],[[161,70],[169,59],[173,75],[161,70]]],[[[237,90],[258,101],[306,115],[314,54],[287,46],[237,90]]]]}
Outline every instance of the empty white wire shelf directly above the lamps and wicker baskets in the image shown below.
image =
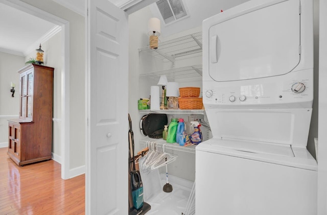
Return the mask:
{"type": "Polygon", "coordinates": [[[175,81],[176,79],[202,77],[202,64],[160,71],[152,71],[151,73],[140,74],[139,78],[150,77],[153,79],[159,79],[162,75],[166,75],[168,81],[175,81]]]}

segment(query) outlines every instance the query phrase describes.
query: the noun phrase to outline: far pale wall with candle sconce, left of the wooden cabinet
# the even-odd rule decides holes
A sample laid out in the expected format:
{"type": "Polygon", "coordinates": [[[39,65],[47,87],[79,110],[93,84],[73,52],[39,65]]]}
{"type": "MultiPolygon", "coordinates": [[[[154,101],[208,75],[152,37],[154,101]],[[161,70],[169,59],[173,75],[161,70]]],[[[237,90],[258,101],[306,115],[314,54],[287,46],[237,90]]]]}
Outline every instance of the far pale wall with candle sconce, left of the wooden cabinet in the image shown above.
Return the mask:
{"type": "Polygon", "coordinates": [[[8,119],[19,114],[19,75],[17,71],[25,66],[25,58],[0,52],[0,147],[8,147],[8,119]],[[11,97],[10,82],[16,84],[11,97]]]}

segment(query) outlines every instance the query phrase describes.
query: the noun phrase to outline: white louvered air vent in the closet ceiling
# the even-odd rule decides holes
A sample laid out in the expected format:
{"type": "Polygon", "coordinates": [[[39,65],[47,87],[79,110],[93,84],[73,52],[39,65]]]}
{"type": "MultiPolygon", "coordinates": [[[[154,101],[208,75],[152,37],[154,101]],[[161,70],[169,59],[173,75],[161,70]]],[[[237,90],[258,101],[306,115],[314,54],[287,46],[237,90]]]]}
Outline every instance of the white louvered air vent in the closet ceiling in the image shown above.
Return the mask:
{"type": "Polygon", "coordinates": [[[166,25],[189,16],[182,0],[159,0],[156,4],[166,25]]]}

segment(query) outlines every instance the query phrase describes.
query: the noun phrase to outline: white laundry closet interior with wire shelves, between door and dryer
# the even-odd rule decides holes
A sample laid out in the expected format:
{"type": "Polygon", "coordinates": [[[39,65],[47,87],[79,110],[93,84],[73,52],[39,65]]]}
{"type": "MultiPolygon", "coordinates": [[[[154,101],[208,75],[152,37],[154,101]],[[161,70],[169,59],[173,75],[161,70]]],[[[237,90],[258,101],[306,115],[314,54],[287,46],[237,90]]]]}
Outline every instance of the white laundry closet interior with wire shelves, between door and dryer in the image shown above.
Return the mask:
{"type": "MultiPolygon", "coordinates": [[[[220,9],[227,9],[227,5],[233,7],[245,1],[237,1],[238,3],[226,1],[224,8],[220,8],[215,1],[210,2],[219,8],[219,10],[212,10],[211,15],[214,15],[220,12],[220,9]]],[[[186,17],[168,25],[165,25],[160,17],[155,3],[129,15],[129,114],[133,124],[135,154],[148,146],[147,140],[150,140],[148,136],[145,137],[141,134],[139,121],[143,115],[153,112],[137,110],[137,101],[140,98],[149,98],[150,88],[158,86],[160,75],[166,75],[168,82],[177,82],[179,87],[200,87],[202,89],[202,20],[211,15],[205,13],[204,9],[207,7],[203,7],[203,11],[196,10],[197,7],[194,5],[200,5],[200,2],[183,1],[183,3],[185,11],[188,13],[186,17]],[[148,21],[151,17],[160,18],[161,34],[157,50],[149,47],[148,21]],[[187,28],[188,26],[189,28],[187,28]]],[[[161,101],[161,86],[159,89],[161,101]]],[[[200,97],[202,97],[202,90],[200,97]]],[[[204,109],[154,112],[166,113],[168,125],[172,117],[184,118],[186,122],[188,122],[189,116],[193,116],[197,120],[205,120],[206,117],[204,109]]],[[[211,135],[204,126],[201,127],[201,131],[203,141],[211,135]]],[[[150,174],[149,172],[142,173],[140,170],[144,184],[145,202],[151,205],[151,210],[147,214],[185,213],[185,207],[195,181],[195,146],[180,147],[176,143],[169,144],[162,138],[154,141],[156,141],[154,146],[158,150],[162,150],[164,147],[166,152],[177,155],[177,158],[168,164],[169,183],[173,186],[172,193],[162,191],[162,187],[166,183],[165,166],[150,174]]],[[[193,204],[195,203],[193,202],[193,204]]]]}

